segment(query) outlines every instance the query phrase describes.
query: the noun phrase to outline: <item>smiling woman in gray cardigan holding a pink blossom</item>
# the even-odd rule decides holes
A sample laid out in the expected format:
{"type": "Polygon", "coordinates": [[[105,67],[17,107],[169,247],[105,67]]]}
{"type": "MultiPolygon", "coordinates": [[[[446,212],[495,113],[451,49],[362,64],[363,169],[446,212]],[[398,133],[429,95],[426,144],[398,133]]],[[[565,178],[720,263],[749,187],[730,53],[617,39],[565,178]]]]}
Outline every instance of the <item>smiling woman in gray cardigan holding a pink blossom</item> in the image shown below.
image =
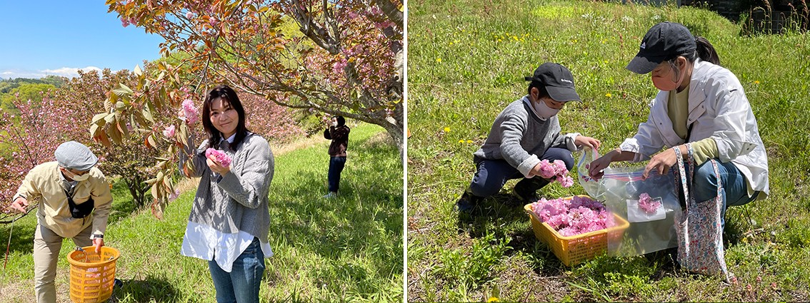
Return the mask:
{"type": "Polygon", "coordinates": [[[200,184],[181,255],[208,261],[217,302],[258,302],[264,259],[273,255],[267,242],[273,154],[263,137],[245,128],[245,109],[230,87],[211,90],[202,114],[208,139],[188,153],[194,171],[185,175],[200,177],[200,184]]]}

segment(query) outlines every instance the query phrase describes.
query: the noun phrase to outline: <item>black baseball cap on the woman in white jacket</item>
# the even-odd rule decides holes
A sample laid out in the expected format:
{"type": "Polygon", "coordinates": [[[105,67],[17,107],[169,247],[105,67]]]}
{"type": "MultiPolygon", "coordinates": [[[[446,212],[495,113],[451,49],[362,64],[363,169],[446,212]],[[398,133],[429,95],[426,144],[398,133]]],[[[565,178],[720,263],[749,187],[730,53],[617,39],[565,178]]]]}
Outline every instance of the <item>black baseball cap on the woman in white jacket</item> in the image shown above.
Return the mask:
{"type": "Polygon", "coordinates": [[[644,35],[636,57],[625,68],[636,74],[647,74],[661,62],[694,52],[695,49],[695,37],[684,24],[658,23],[644,35]]]}

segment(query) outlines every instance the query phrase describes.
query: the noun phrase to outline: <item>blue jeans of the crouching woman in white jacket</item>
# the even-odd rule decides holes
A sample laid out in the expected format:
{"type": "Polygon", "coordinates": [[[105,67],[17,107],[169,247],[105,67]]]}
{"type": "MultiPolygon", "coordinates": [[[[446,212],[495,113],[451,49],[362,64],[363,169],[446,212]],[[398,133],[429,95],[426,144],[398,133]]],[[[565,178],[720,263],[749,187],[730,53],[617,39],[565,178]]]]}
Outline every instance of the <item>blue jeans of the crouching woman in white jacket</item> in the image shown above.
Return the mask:
{"type": "MultiPolygon", "coordinates": [[[[734,166],[733,163],[720,162],[719,159],[714,159],[717,162],[718,171],[720,172],[720,184],[723,186],[720,191],[720,196],[723,200],[723,207],[720,208],[720,222],[721,227],[726,226],[726,208],[729,206],[737,206],[748,204],[757,198],[759,191],[755,191],[753,196],[748,196],[748,185],[745,182],[745,176],[734,166]]],[[[687,176],[689,176],[689,168],[687,167],[687,176]]],[[[692,195],[695,201],[700,203],[706,200],[712,200],[717,197],[717,175],[714,175],[714,168],[710,161],[703,162],[695,168],[694,182],[692,188],[692,195]]],[[[689,182],[689,180],[687,180],[689,182]]],[[[681,196],[682,197],[682,196],[681,196]]]]}

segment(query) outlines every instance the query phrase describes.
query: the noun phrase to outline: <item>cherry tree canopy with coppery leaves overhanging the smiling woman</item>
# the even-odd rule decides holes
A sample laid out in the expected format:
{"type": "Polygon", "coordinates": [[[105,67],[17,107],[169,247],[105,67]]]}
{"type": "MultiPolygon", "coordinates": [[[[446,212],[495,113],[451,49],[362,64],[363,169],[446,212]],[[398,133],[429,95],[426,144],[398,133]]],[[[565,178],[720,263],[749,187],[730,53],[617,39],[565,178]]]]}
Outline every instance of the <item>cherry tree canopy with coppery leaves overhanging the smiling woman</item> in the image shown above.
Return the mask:
{"type": "Polygon", "coordinates": [[[123,26],[162,36],[164,57],[188,54],[182,70],[194,76],[178,77],[190,79],[179,84],[196,95],[226,82],[283,107],[381,125],[402,148],[398,0],[108,0],[107,5],[123,26]],[[286,30],[290,23],[298,34],[286,30]]]}

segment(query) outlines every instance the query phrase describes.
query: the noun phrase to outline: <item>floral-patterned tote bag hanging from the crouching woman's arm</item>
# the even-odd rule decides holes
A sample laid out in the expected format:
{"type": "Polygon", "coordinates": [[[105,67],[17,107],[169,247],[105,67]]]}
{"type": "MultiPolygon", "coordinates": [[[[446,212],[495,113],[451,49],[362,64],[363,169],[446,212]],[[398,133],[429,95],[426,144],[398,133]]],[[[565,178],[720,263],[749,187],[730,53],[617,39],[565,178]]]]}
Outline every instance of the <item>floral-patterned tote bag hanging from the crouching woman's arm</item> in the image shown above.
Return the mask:
{"type": "MultiPolygon", "coordinates": [[[[689,149],[689,157],[685,159],[686,165],[689,166],[689,180],[693,180],[695,165],[692,145],[687,144],[686,148],[689,149]]],[[[693,184],[687,183],[684,159],[681,158],[677,146],[673,149],[676,149],[677,172],[680,175],[680,184],[683,187],[686,204],[683,213],[676,213],[675,217],[679,243],[678,263],[687,271],[706,276],[722,276],[728,281],[733,275],[727,270],[723,251],[723,229],[720,221],[720,208],[723,207],[723,198],[720,195],[723,194],[721,192],[723,184],[719,184],[720,173],[717,162],[710,160],[711,165],[714,166],[714,174],[718,177],[717,196],[712,200],[696,203],[694,196],[689,195],[689,188],[693,184]]]]}

